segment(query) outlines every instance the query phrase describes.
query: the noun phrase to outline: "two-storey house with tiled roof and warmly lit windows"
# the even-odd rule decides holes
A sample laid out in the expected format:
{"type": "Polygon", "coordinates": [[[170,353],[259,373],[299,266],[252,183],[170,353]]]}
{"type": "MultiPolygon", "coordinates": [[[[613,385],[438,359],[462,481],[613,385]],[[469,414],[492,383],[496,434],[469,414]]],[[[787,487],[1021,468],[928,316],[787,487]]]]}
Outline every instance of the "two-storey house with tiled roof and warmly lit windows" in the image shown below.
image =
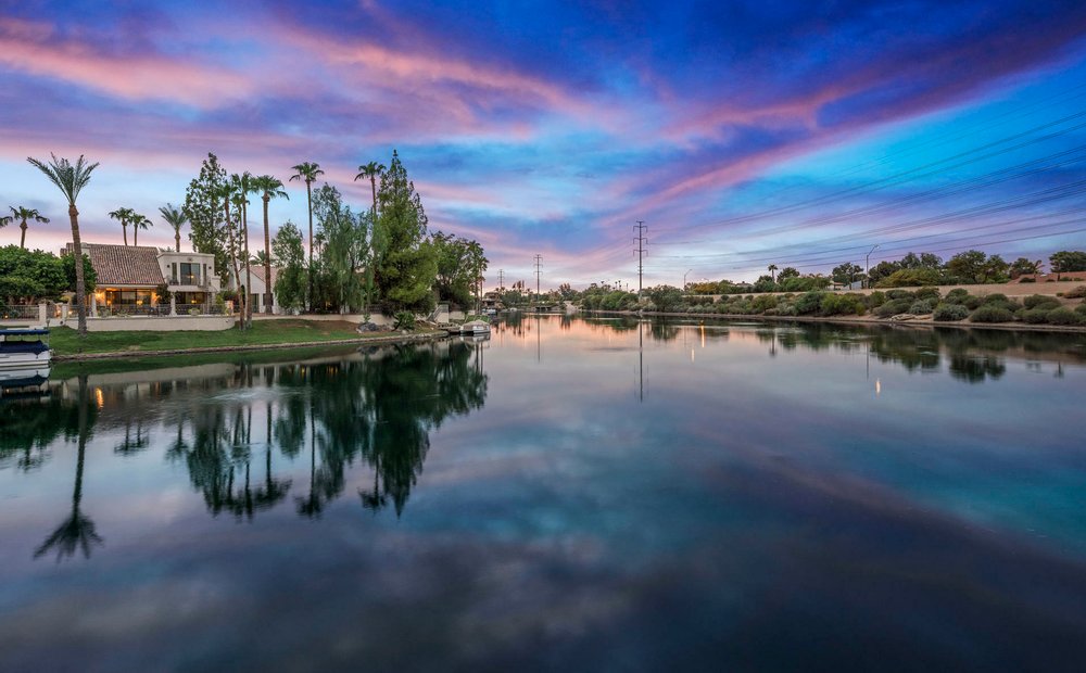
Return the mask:
{"type": "MultiPolygon", "coordinates": [[[[220,291],[215,255],[148,245],[83,243],[81,249],[98,277],[89,296],[92,313],[101,306],[135,312],[156,306],[162,285],[174,295],[178,308],[210,307],[220,291]]],[[[72,244],[61,254],[72,254],[72,244]]]]}

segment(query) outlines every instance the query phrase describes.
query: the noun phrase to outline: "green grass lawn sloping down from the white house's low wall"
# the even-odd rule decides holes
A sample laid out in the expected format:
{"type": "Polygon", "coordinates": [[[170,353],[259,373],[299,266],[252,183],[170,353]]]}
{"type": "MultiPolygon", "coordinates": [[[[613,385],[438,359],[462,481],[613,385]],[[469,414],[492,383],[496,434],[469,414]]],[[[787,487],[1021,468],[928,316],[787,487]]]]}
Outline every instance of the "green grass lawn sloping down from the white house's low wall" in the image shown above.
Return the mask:
{"type": "MultiPolygon", "coordinates": [[[[376,332],[375,336],[388,335],[376,332]]],[[[58,355],[78,353],[140,353],[175,348],[209,348],[216,346],[250,346],[268,344],[365,339],[346,321],[326,320],[255,320],[245,332],[231,327],[222,332],[87,332],[79,339],[68,327],[53,328],[49,345],[58,355]]]]}

